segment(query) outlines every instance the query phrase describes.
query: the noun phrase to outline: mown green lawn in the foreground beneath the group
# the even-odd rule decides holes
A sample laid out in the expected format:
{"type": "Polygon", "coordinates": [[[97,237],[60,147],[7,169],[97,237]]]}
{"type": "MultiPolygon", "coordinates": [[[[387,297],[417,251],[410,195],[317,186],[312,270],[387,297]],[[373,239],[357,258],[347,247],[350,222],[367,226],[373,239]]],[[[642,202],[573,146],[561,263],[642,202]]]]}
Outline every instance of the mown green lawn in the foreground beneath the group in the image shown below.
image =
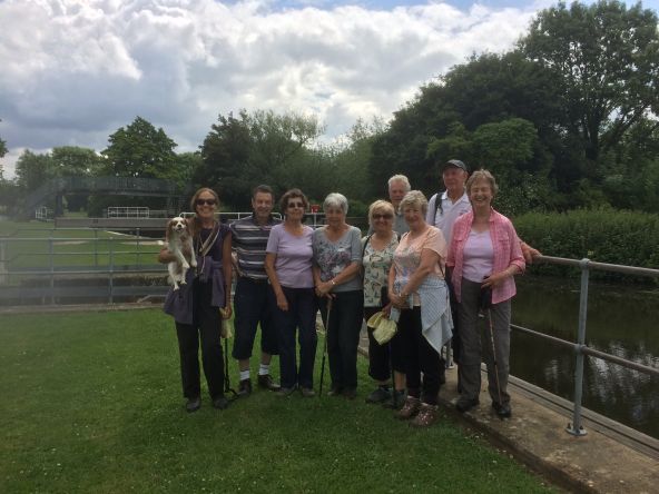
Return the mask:
{"type": "Polygon", "coordinates": [[[364,358],[354,402],[255,389],[187,414],[159,310],[0,318],[2,493],[549,491],[445,416],[415,431],[366,405],[364,358]]]}

